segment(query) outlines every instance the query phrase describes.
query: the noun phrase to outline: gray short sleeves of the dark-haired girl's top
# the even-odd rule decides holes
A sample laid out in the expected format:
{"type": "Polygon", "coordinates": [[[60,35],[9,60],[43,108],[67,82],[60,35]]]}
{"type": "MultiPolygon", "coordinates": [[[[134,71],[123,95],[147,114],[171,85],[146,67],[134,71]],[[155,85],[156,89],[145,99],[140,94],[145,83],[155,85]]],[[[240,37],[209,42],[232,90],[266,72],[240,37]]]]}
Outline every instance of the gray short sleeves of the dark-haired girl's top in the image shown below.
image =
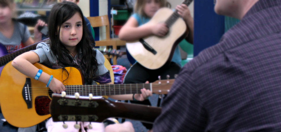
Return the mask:
{"type": "MultiPolygon", "coordinates": [[[[32,51],[35,52],[39,56],[39,58],[40,58],[39,63],[44,63],[45,65],[49,66],[50,68],[57,68],[56,59],[54,58],[54,55],[53,55],[52,51],[50,50],[50,47],[48,44],[41,42],[37,45],[36,50],[32,50],[32,51]]],[[[101,78],[100,82],[103,81],[105,78],[106,78],[106,80],[108,80],[108,79],[110,80],[110,75],[102,76],[102,75],[109,73],[109,71],[104,66],[103,54],[100,51],[98,51],[97,49],[95,49],[95,51],[97,53],[96,59],[97,59],[97,63],[98,63],[98,66],[97,66],[98,69],[95,73],[95,76],[98,78],[101,78]]],[[[97,81],[97,80],[95,80],[95,81],[97,81]]],[[[97,84],[95,81],[92,82],[92,85],[97,84]]],[[[84,82],[86,84],[87,81],[84,81],[84,82]]],[[[110,80],[110,82],[111,82],[111,80],[110,80]]],[[[105,82],[105,83],[108,83],[108,82],[105,82]]]]}

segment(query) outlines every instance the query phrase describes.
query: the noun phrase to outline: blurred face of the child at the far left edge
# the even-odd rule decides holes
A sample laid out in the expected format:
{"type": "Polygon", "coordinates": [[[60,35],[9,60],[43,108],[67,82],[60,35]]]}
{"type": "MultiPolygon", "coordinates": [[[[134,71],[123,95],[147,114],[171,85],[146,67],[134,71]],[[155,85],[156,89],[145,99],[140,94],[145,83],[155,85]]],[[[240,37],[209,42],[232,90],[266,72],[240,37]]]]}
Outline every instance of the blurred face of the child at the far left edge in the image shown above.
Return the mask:
{"type": "Polygon", "coordinates": [[[0,23],[8,22],[12,19],[12,9],[9,6],[3,6],[0,4],[0,23]]]}

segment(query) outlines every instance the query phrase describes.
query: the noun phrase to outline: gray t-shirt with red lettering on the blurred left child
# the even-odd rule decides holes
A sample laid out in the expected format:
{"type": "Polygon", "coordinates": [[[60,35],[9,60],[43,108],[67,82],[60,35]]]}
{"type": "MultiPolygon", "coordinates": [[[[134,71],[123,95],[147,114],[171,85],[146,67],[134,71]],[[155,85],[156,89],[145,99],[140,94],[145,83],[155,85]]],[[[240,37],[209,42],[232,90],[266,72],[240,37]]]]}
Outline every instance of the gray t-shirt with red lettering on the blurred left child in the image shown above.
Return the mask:
{"type": "Polygon", "coordinates": [[[22,43],[25,43],[30,37],[30,33],[26,25],[23,25],[22,23],[15,20],[13,22],[14,22],[14,32],[11,38],[5,37],[0,32],[0,43],[6,47],[8,53],[23,48],[24,46],[22,43]]]}

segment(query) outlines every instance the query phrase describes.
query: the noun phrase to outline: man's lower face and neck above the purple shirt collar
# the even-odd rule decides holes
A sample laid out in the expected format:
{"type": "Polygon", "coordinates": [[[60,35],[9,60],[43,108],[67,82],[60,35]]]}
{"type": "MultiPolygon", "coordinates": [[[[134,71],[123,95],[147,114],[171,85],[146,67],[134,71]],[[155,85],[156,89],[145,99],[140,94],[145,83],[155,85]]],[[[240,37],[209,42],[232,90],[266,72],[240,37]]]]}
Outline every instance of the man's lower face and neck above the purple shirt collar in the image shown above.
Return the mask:
{"type": "Polygon", "coordinates": [[[215,12],[219,15],[242,19],[256,2],[258,0],[216,0],[215,12]]]}

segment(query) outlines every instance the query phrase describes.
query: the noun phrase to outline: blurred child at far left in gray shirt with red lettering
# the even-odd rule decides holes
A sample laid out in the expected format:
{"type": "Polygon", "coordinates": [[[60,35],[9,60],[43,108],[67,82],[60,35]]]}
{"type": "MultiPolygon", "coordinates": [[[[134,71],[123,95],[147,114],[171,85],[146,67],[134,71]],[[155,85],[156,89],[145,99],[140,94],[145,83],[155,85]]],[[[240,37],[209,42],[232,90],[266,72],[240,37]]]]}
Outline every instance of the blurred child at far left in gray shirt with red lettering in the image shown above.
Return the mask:
{"type": "Polygon", "coordinates": [[[42,21],[37,22],[33,40],[27,26],[13,18],[15,9],[14,0],[0,1],[0,43],[6,47],[8,53],[41,41],[42,33],[37,27],[45,25],[42,21]]]}

